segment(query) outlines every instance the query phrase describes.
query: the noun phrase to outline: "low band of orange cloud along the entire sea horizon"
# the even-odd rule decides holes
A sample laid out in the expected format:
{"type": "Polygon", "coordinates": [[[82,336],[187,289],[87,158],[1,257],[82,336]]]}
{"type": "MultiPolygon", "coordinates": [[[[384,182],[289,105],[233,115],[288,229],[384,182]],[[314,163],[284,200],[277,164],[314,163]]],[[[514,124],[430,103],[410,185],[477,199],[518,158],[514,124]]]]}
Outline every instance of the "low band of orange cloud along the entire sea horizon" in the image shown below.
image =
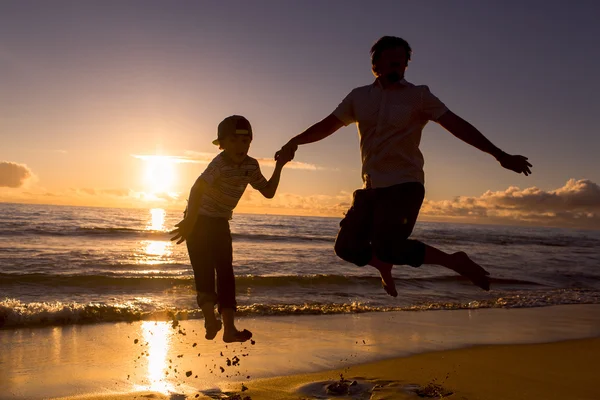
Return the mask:
{"type": "MultiPolygon", "coordinates": [[[[49,192],[42,188],[37,191],[0,190],[0,200],[3,201],[181,210],[186,206],[186,197],[187,193],[146,193],[124,188],[77,188],[62,192],[49,192]]],[[[311,196],[277,193],[273,199],[266,199],[259,192],[248,189],[235,212],[342,218],[351,200],[350,192],[311,196]]],[[[537,187],[509,187],[504,191],[487,191],[477,197],[460,196],[441,201],[425,199],[420,218],[600,229],[600,186],[586,179],[570,179],[564,186],[548,191],[537,187]]]]}

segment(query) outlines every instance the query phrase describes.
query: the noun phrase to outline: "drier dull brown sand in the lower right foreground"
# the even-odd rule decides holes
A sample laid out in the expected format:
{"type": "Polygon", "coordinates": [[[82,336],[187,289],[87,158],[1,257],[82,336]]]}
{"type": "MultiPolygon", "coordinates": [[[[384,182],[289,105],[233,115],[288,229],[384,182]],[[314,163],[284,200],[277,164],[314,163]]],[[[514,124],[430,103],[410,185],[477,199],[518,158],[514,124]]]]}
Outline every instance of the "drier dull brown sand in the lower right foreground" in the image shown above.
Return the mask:
{"type": "Polygon", "coordinates": [[[53,400],[398,399],[592,400],[600,396],[593,365],[600,337],[550,343],[481,345],[277,376],[195,394],[98,393],[53,400]],[[490,362],[490,360],[493,361],[490,362]],[[332,394],[332,384],[344,385],[332,394]],[[243,390],[241,390],[243,389],[243,390]],[[240,397],[236,397],[239,395],[240,397]],[[450,397],[451,396],[451,397],[450,397]]]}

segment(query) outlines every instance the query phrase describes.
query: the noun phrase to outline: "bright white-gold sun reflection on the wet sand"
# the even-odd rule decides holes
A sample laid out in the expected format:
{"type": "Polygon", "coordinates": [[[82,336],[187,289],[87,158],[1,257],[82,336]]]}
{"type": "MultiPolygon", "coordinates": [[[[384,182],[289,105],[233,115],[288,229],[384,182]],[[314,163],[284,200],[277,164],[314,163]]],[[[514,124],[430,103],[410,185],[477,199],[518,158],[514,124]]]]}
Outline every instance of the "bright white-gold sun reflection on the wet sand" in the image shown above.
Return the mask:
{"type": "Polygon", "coordinates": [[[148,374],[146,376],[148,385],[138,389],[168,394],[175,389],[173,384],[167,380],[168,375],[166,374],[168,371],[167,354],[173,332],[167,322],[143,321],[141,328],[144,341],[148,343],[148,374]]]}

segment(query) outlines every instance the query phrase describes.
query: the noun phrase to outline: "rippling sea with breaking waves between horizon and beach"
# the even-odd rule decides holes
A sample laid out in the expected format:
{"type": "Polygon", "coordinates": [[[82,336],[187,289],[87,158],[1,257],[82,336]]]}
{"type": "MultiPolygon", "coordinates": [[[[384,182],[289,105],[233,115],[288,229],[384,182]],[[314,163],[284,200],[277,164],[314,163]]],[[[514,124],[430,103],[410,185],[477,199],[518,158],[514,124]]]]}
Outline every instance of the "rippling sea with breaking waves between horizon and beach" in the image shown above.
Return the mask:
{"type": "MultiPolygon", "coordinates": [[[[0,329],[202,318],[181,211],[0,203],[0,329]]],[[[340,218],[234,214],[238,315],[600,304],[600,231],[419,221],[413,238],[465,251],[485,292],[446,268],[375,269],[337,258],[340,218]]]]}

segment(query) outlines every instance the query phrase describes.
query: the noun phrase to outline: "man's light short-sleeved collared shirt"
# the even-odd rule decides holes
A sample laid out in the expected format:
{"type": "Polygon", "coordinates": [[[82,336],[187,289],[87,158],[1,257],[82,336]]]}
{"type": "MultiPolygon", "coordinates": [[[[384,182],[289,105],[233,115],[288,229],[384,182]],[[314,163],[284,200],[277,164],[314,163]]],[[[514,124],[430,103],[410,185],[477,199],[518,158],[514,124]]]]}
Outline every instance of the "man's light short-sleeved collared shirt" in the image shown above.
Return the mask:
{"type": "Polygon", "coordinates": [[[357,124],[363,181],[378,188],[424,183],[421,133],[446,111],[427,86],[402,79],[386,89],[376,80],[352,90],[333,115],[346,126],[357,124]]]}

